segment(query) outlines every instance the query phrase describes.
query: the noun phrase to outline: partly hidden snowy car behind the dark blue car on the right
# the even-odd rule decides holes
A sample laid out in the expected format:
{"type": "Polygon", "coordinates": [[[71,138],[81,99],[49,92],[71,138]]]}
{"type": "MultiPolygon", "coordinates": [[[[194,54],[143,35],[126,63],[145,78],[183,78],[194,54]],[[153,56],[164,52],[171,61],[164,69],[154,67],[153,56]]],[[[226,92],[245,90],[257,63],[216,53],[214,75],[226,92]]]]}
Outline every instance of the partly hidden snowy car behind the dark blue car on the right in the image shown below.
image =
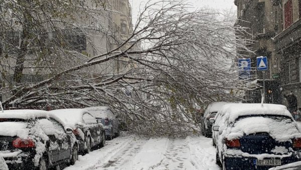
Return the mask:
{"type": "Polygon", "coordinates": [[[205,137],[212,137],[212,123],[209,121],[209,119],[214,118],[217,111],[225,104],[227,103],[214,102],[208,105],[203,117],[201,117],[201,131],[205,137]]]}

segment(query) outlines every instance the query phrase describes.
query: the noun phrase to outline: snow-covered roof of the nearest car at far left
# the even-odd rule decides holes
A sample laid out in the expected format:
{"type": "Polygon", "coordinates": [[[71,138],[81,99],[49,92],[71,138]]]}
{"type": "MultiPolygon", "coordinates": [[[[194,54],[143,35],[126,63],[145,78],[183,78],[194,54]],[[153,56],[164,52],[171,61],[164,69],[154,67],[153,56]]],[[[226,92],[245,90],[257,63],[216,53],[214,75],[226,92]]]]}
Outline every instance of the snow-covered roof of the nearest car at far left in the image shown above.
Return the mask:
{"type": "Polygon", "coordinates": [[[44,110],[4,110],[0,111],[0,118],[16,118],[16,119],[35,119],[37,117],[48,117],[48,112],[44,110]]]}

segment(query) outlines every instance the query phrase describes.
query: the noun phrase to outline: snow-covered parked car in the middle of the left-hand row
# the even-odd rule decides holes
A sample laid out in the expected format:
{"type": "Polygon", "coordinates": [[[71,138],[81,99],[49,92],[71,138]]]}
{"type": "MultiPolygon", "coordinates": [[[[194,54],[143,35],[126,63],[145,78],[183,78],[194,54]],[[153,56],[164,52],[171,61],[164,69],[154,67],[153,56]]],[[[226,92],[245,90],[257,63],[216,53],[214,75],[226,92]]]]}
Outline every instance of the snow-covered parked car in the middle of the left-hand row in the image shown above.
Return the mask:
{"type": "Polygon", "coordinates": [[[56,115],[69,127],[73,128],[73,133],[79,141],[79,152],[85,154],[91,149],[103,147],[105,145],[105,132],[101,123],[86,109],[58,109],[51,110],[50,113],[56,115]]]}

